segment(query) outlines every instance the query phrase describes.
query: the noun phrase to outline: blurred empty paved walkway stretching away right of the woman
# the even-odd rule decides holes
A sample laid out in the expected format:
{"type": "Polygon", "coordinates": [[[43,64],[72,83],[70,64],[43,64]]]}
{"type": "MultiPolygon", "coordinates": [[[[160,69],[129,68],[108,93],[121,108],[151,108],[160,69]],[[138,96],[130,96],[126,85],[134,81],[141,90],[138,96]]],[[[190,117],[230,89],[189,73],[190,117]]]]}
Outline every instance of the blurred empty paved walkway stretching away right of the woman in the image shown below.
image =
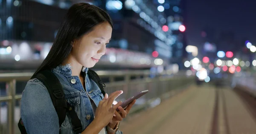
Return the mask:
{"type": "Polygon", "coordinates": [[[191,86],[120,124],[124,134],[256,134],[250,95],[224,87],[191,86]]]}

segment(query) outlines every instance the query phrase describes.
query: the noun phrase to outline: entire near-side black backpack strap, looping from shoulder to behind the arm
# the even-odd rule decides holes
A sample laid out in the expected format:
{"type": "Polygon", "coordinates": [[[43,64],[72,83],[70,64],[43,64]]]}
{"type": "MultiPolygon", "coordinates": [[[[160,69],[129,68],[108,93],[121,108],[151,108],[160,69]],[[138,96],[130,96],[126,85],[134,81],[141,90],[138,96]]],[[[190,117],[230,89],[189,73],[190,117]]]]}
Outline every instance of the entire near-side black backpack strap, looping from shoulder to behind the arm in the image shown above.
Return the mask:
{"type": "MultiPolygon", "coordinates": [[[[52,73],[51,70],[43,70],[35,74],[32,78],[37,78],[47,88],[49,95],[52,99],[53,106],[58,114],[59,127],[64,122],[67,112],[70,114],[73,130],[76,134],[82,132],[82,125],[79,117],[76,114],[75,108],[71,106],[65,99],[62,85],[58,78],[52,73]]],[[[18,123],[21,134],[27,134],[22,119],[18,123]]],[[[61,130],[61,129],[60,129],[61,130]]]]}

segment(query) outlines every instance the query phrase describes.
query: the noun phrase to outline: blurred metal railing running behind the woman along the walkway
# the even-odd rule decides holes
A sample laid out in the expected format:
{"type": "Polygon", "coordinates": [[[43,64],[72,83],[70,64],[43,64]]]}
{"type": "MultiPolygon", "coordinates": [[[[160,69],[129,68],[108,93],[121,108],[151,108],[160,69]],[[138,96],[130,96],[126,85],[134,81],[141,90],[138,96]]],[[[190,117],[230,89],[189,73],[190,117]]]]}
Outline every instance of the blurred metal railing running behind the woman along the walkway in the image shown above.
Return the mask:
{"type": "MultiPolygon", "coordinates": [[[[186,76],[185,72],[179,72],[176,74],[168,71],[163,71],[162,73],[151,73],[149,70],[96,72],[100,78],[108,79],[108,83],[105,83],[105,91],[107,93],[117,90],[124,91],[116,101],[123,101],[131,97],[131,95],[134,95],[136,92],[148,89],[150,92],[138,99],[133,109],[141,109],[142,106],[145,107],[145,104],[149,104],[150,106],[154,105],[158,102],[152,101],[152,98],[158,98],[157,100],[159,101],[160,95],[169,91],[176,90],[178,92],[180,87],[184,87],[186,84],[190,84],[194,80],[194,77],[186,76]]],[[[33,73],[0,74],[0,82],[6,83],[6,95],[0,96],[0,134],[20,133],[17,127],[17,122],[20,118],[20,99],[22,95],[16,93],[16,85],[17,81],[28,81],[32,74],[33,73]],[[2,106],[3,102],[7,103],[6,106],[2,106]],[[1,113],[4,111],[6,111],[7,114],[1,113]],[[5,115],[7,115],[7,118],[5,115]],[[6,120],[4,118],[6,118],[6,120]]]]}

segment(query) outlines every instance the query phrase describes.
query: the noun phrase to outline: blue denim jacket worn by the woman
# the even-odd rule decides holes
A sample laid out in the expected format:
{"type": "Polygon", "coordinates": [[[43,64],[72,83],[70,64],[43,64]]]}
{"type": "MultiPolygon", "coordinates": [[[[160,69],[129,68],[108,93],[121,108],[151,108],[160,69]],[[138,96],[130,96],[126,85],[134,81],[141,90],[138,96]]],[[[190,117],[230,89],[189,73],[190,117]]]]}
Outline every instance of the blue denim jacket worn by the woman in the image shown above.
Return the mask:
{"type": "MultiPolygon", "coordinates": [[[[97,84],[86,75],[87,68],[84,67],[82,70],[85,75],[85,90],[79,77],[71,75],[70,68],[70,64],[60,65],[52,69],[52,72],[61,82],[65,98],[75,107],[84,130],[94,119],[90,98],[98,106],[104,96],[97,84]]],[[[31,79],[27,82],[21,98],[20,114],[28,134],[59,134],[58,115],[49,92],[38,79],[31,79]]],[[[60,134],[73,133],[71,119],[66,116],[61,124],[60,134]]],[[[122,131],[118,130],[116,134],[122,134],[122,131]]]]}

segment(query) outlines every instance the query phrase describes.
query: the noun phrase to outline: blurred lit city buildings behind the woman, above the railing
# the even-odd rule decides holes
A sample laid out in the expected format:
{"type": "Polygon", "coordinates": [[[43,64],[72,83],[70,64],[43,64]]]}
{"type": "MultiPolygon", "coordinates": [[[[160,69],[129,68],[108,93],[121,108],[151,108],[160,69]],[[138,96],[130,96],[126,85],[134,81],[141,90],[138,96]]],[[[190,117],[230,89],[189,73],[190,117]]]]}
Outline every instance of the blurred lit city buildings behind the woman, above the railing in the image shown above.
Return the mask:
{"type": "Polygon", "coordinates": [[[35,69],[47,56],[67,9],[86,2],[107,11],[112,40],[96,68],[183,67],[181,0],[1,0],[1,70],[35,69]]]}

